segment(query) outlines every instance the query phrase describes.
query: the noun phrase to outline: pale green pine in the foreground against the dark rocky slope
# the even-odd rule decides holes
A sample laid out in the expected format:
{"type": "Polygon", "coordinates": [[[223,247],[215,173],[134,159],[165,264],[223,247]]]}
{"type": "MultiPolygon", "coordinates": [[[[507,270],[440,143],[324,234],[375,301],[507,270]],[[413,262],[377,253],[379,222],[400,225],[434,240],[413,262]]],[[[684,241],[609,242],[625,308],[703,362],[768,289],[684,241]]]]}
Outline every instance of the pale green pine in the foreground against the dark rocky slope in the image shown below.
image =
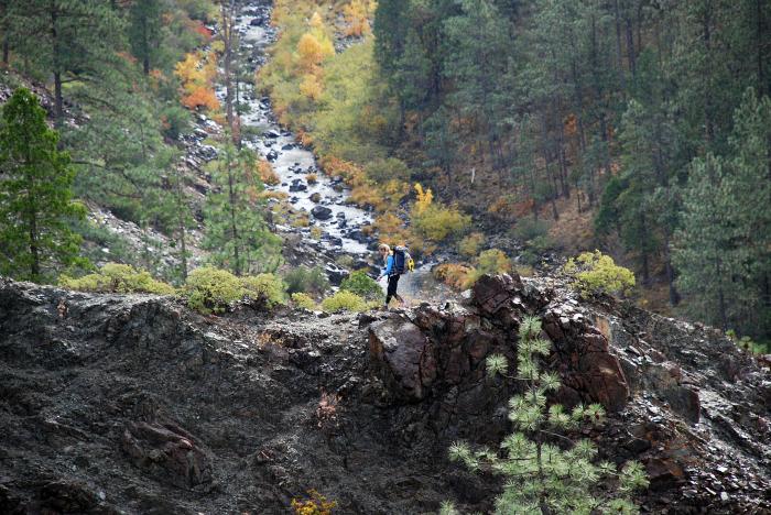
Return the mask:
{"type": "MultiPolygon", "coordinates": [[[[579,405],[568,413],[560,404],[547,405],[547,396],[560,388],[560,376],[541,364],[550,348],[541,337],[541,321],[535,317],[522,320],[517,376],[510,379],[523,382],[524,390],[509,401],[514,432],[500,445],[504,456],[456,442],[449,449],[450,459],[471,471],[489,471],[506,479],[503,492],[496,498],[497,514],[636,513],[631,495],[648,485],[642,465],[631,461],[618,471],[613,463],[596,463],[594,442],[571,438],[582,427],[601,423],[602,407],[579,405]],[[601,482],[616,482],[616,492],[599,489],[601,482]]],[[[501,354],[487,359],[490,377],[509,377],[508,368],[501,354]]],[[[457,511],[447,503],[441,513],[457,511]]]]}

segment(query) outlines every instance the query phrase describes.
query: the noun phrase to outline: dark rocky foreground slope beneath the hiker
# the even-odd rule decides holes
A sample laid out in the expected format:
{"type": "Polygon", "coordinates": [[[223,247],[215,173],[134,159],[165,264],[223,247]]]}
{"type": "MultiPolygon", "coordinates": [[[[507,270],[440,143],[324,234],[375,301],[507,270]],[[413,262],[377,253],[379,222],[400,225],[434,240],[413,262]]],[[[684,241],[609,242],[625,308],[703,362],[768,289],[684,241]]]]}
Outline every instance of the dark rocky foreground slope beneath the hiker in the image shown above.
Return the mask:
{"type": "Polygon", "coordinates": [[[286,513],[308,489],[339,513],[487,509],[496,479],[446,449],[508,431],[517,385],[484,358],[525,313],[560,401],[602,402],[602,452],[645,463],[645,507],[771,511],[768,371],[712,329],[486,276],[463,306],[329,317],[0,281],[0,512],[286,513]]]}

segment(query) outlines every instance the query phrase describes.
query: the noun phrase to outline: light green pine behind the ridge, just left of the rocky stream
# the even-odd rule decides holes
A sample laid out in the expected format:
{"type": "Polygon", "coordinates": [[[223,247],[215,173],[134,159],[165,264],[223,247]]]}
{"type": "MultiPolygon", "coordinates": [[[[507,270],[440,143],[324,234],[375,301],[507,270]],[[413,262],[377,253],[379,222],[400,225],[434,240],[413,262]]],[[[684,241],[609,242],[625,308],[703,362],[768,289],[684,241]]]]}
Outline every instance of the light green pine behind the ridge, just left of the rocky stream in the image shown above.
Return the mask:
{"type": "Polygon", "coordinates": [[[211,262],[236,275],[273,272],[280,264],[281,239],[262,217],[263,186],[253,152],[228,143],[213,180],[216,189],[206,197],[204,211],[204,244],[211,262]]]}

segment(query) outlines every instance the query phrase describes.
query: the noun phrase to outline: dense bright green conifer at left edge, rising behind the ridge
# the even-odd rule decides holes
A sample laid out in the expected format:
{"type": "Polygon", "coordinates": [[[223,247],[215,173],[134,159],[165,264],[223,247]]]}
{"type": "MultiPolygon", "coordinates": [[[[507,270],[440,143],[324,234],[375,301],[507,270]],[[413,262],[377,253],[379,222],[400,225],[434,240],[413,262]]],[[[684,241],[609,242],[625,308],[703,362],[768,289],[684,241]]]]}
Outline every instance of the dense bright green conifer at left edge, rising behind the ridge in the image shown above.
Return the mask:
{"type": "Polygon", "coordinates": [[[80,238],[68,221],[86,210],[72,200],[75,172],[58,134],[29,90],[17,89],[2,109],[0,129],[0,273],[35,282],[57,265],[83,264],[80,238]]]}

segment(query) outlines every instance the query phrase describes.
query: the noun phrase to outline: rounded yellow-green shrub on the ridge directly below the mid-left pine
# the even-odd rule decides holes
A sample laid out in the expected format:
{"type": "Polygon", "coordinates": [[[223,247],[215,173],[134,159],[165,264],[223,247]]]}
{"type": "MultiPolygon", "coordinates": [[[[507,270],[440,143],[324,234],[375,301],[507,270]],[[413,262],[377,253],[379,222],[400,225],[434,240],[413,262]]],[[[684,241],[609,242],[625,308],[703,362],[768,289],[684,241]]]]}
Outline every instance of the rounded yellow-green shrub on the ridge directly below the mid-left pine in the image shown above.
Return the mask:
{"type": "Polygon", "coordinates": [[[205,266],[189,273],[183,294],[191,309],[208,314],[225,311],[240,300],[246,291],[241,281],[230,272],[205,266]]]}

